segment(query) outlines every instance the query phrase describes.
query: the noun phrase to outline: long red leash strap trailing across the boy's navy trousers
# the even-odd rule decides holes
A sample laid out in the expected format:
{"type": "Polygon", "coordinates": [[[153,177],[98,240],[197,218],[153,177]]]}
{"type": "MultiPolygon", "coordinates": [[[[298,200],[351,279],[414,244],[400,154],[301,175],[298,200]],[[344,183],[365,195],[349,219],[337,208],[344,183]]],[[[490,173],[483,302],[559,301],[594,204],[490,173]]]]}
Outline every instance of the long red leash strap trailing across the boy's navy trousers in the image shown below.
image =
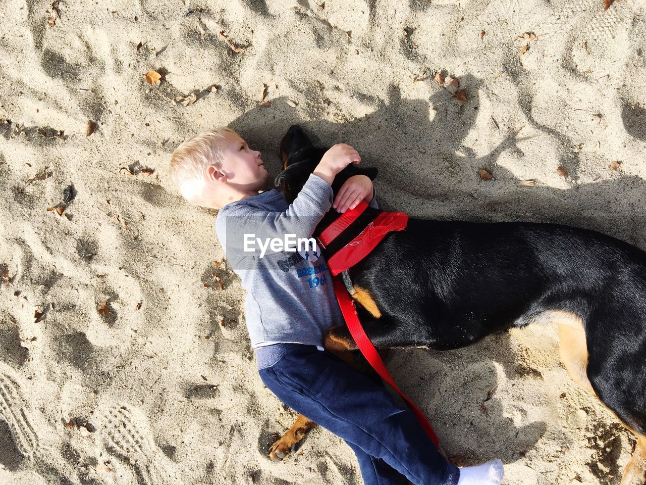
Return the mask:
{"type": "Polygon", "coordinates": [[[433,442],[433,444],[435,444],[435,447],[439,449],[439,440],[437,439],[437,435],[435,435],[435,431],[433,431],[433,428],[426,419],[426,416],[424,416],[424,413],[422,413],[422,411],[420,411],[419,408],[415,404],[413,404],[413,402],[408,399],[404,395],[404,393],[402,393],[402,391],[399,390],[399,387],[397,387],[397,384],[395,384],[395,381],[393,381],[390,372],[388,372],[388,369],[386,369],[384,361],[381,360],[379,354],[377,353],[377,349],[375,349],[375,346],[372,345],[372,342],[366,335],[366,332],[364,331],[359,321],[359,316],[357,316],[355,304],[349,296],[348,290],[346,290],[346,286],[344,286],[343,281],[339,276],[333,277],[333,281],[334,292],[337,296],[337,300],[339,300],[339,307],[341,307],[343,318],[346,320],[346,325],[348,325],[350,334],[352,335],[352,338],[355,339],[359,350],[361,350],[361,353],[368,360],[368,362],[370,362],[370,365],[373,367],[373,369],[377,371],[377,374],[379,374],[379,376],[384,381],[388,382],[393,387],[393,389],[395,389],[395,391],[397,391],[399,395],[402,396],[404,402],[406,402],[406,405],[408,406],[408,409],[413,411],[415,418],[417,418],[417,421],[419,421],[419,424],[426,432],[426,435],[431,438],[431,441],[433,442]]]}

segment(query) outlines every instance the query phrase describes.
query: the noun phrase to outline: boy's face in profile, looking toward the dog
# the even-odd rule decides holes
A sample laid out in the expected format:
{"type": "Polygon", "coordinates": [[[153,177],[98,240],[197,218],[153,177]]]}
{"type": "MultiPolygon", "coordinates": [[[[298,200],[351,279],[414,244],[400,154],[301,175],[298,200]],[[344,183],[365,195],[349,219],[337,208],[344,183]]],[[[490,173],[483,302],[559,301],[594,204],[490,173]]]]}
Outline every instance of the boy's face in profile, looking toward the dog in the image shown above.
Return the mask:
{"type": "Polygon", "coordinates": [[[227,177],[227,184],[242,191],[257,191],[264,187],[269,173],[260,151],[252,150],[236,133],[227,133],[224,162],[220,169],[227,177]]]}

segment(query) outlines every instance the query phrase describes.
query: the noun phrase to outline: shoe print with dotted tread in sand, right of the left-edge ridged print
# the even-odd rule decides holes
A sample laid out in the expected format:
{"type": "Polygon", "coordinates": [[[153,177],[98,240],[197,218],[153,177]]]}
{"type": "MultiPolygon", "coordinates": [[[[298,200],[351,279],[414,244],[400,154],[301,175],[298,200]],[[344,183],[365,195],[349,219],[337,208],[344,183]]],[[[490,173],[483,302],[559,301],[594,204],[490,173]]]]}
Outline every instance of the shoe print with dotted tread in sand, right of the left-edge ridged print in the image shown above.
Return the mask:
{"type": "Polygon", "coordinates": [[[98,429],[107,449],[125,458],[146,485],[166,483],[165,457],[152,440],[146,416],[139,409],[123,404],[111,404],[99,416],[98,429]]]}

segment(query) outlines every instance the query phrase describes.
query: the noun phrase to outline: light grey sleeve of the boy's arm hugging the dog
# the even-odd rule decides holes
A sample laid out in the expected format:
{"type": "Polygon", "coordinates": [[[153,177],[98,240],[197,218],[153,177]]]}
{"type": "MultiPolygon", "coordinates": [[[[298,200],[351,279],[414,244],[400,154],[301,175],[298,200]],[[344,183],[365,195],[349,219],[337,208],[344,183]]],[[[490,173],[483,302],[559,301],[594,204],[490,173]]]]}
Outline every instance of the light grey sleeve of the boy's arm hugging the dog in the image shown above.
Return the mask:
{"type": "Polygon", "coordinates": [[[284,239],[286,234],[310,237],[331,208],[332,200],[333,192],[328,183],[311,174],[296,199],[282,212],[247,204],[224,206],[216,218],[216,233],[227,258],[232,253],[245,252],[245,238],[251,234],[254,239],[284,239]]]}

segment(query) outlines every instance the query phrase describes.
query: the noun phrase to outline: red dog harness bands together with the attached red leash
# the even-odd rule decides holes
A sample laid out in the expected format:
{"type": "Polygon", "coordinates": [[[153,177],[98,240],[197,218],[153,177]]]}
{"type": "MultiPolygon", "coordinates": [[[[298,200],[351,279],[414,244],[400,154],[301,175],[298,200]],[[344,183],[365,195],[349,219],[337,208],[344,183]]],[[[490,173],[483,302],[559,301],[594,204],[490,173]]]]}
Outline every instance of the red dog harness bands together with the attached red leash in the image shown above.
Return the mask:
{"type": "MultiPolygon", "coordinates": [[[[345,211],[339,216],[339,219],[334,221],[332,224],[324,230],[321,235],[318,237],[319,242],[322,243],[322,246],[325,248],[333,241],[340,233],[344,232],[349,225],[354,222],[357,217],[359,217],[368,207],[368,204],[362,200],[357,207],[354,209],[345,211]]],[[[337,276],[340,272],[351,268],[355,264],[359,263],[366,255],[368,255],[379,242],[384,239],[386,234],[391,231],[401,231],[406,228],[408,224],[408,215],[401,212],[382,212],[377,216],[377,219],[370,222],[362,232],[357,235],[352,241],[348,242],[343,246],[339,251],[328,259],[328,269],[332,275],[334,275],[334,292],[339,301],[339,307],[341,307],[341,313],[343,318],[346,320],[346,325],[348,325],[348,330],[352,335],[352,338],[355,339],[357,347],[361,350],[361,353],[364,357],[370,362],[373,369],[377,371],[377,374],[386,382],[388,382],[397,393],[404,399],[408,408],[413,412],[415,418],[422,426],[422,429],[426,432],[426,435],[431,439],[433,444],[436,447],[439,447],[439,440],[435,431],[431,427],[430,423],[424,416],[424,413],[419,410],[419,408],[413,404],[413,402],[408,399],[402,391],[399,390],[397,384],[393,381],[390,372],[386,369],[384,361],[381,360],[377,349],[372,345],[372,342],[366,335],[361,323],[359,321],[359,316],[357,316],[357,310],[355,304],[352,301],[351,297],[348,294],[348,290],[344,285],[342,279],[337,276]]]]}

